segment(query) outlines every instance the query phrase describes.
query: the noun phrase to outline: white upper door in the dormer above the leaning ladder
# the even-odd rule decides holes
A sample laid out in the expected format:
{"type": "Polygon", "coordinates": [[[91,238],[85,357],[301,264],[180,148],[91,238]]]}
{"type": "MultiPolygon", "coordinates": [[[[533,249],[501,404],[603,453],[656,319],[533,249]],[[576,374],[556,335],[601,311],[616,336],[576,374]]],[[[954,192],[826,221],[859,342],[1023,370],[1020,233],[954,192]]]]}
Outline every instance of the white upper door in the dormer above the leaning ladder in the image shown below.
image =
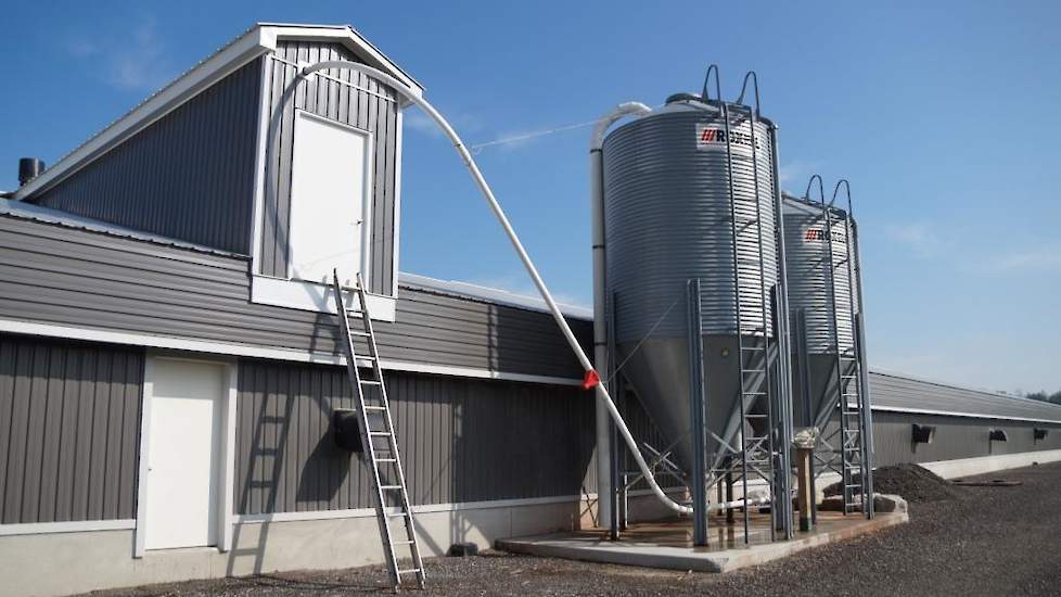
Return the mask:
{"type": "Polygon", "coordinates": [[[291,277],[344,282],[361,271],[368,218],[368,134],[307,112],[295,113],[291,164],[291,277]]]}

